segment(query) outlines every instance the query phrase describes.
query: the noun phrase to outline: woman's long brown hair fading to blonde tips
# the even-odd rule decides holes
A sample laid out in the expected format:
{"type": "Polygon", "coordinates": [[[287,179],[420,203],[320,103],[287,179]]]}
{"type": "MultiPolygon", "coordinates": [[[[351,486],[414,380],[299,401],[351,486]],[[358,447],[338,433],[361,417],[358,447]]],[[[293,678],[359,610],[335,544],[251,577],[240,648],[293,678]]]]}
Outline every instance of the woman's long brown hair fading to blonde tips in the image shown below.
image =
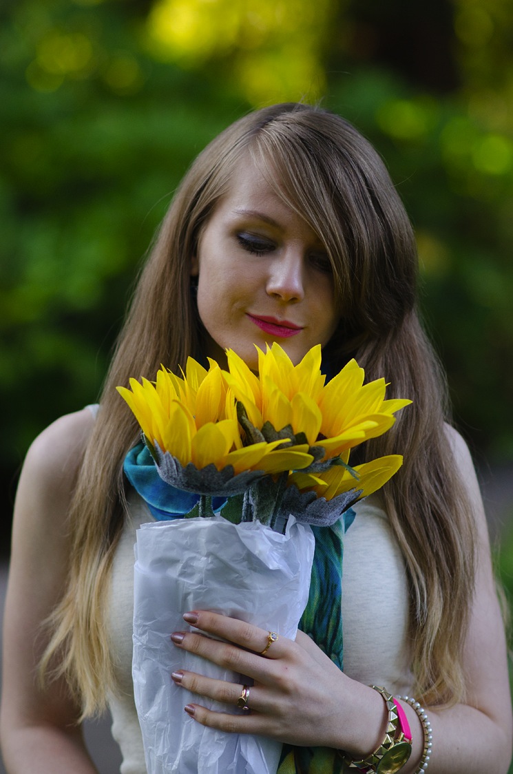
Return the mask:
{"type": "Polygon", "coordinates": [[[446,439],[446,398],[416,313],[416,246],[402,202],[378,154],[344,119],[303,104],[241,118],[197,157],[169,207],[145,265],[101,396],[70,509],[69,582],[50,619],[45,673],[67,676],[84,717],[115,691],[106,634],[112,557],[125,522],[122,461],[138,439],[116,385],[176,369],[200,356],[202,327],[190,293],[190,261],[204,224],[245,154],[282,200],[316,231],[343,310],[325,348],[332,368],[355,357],[389,397],[409,397],[384,437],[361,457],[400,452],[405,464],[383,490],[405,557],[416,690],[429,704],[463,697],[461,653],[474,585],[470,508],[446,439]]]}

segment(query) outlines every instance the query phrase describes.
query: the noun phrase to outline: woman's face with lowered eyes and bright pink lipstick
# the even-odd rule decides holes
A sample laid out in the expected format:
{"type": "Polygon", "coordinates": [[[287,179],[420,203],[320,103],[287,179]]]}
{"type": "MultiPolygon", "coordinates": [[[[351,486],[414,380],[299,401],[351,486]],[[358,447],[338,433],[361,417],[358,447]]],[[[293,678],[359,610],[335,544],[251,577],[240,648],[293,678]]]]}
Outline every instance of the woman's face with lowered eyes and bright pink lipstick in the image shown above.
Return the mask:
{"type": "Polygon", "coordinates": [[[217,361],[231,348],[256,368],[254,344],[265,351],[276,341],[296,364],[327,344],[340,319],[323,244],[250,159],[238,164],[203,228],[191,274],[209,336],[205,354],[217,361]]]}

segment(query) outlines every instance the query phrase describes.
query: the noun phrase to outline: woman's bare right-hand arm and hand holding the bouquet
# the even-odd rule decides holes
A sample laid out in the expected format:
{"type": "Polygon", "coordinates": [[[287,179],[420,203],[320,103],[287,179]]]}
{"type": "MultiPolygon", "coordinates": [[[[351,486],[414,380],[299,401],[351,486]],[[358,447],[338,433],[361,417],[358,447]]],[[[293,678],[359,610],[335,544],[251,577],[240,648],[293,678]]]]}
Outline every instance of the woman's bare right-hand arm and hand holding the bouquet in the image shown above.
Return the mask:
{"type": "MultiPolygon", "coordinates": [[[[450,439],[475,504],[477,579],[463,654],[467,700],[445,711],[428,708],[433,727],[429,772],[506,774],[511,757],[511,699],[487,524],[467,447],[457,433],[451,432],[450,439]]],[[[186,620],[194,623],[190,617],[186,620]]],[[[385,731],[381,697],[337,670],[302,632],[298,632],[296,642],[280,638],[262,657],[258,654],[267,642],[267,632],[262,629],[203,611],[199,611],[194,625],[244,649],[193,633],[173,635],[176,646],[255,680],[248,701],[251,714],[207,711],[199,700],[187,708],[198,722],[225,731],[268,735],[296,745],[342,748],[355,758],[364,758],[381,743],[385,731]]],[[[241,695],[241,685],[207,680],[196,674],[178,673],[174,679],[193,693],[232,706],[241,695]]],[[[416,713],[407,704],[403,703],[403,708],[412,728],[413,751],[401,771],[411,774],[419,765],[423,734],[416,713]]]]}

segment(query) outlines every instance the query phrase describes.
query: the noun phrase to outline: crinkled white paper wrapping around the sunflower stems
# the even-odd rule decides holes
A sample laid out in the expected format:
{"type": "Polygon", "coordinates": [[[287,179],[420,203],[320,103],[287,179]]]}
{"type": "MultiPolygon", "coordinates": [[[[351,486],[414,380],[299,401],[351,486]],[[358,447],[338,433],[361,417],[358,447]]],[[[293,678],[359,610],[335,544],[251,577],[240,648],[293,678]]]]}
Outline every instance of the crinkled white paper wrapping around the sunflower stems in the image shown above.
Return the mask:
{"type": "Polygon", "coordinates": [[[210,610],[294,639],[308,601],[314,543],[310,526],[293,516],[285,535],[261,522],[235,525],[222,516],[151,522],[137,530],[132,676],[149,774],[275,774],[281,742],[200,725],[183,711],[186,704],[242,711],[176,686],[171,673],[248,680],[176,648],[169,638],[193,629],[184,612],[210,610]]]}

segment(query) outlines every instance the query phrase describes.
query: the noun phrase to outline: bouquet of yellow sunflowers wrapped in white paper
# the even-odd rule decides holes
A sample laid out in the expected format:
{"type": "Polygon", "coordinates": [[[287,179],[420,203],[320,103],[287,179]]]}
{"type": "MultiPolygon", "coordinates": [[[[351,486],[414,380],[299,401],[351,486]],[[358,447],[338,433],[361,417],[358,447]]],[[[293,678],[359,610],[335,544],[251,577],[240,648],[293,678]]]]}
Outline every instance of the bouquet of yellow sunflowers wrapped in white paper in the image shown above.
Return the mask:
{"type": "MultiPolygon", "coordinates": [[[[162,519],[162,500],[173,503],[163,520],[142,525],[135,547],[133,676],[149,774],[273,774],[278,767],[278,743],[226,735],[185,716],[189,698],[169,680],[173,670],[241,680],[176,654],[169,633],[183,628],[183,611],[210,609],[293,639],[310,606],[311,526],[318,543],[328,529],[336,534],[351,505],[401,466],[394,454],[351,467],[350,454],[385,433],[410,401],[385,400],[383,379],[364,385],[354,360],[326,384],[320,359],[317,346],[295,366],[273,344],[258,350],[255,375],[228,350],[226,371],[190,358],[182,378],[161,368],[156,382],[118,387],[158,474],[159,508],[148,497],[150,510],[162,519]]],[[[336,628],[341,651],[340,621],[336,628]]]]}

